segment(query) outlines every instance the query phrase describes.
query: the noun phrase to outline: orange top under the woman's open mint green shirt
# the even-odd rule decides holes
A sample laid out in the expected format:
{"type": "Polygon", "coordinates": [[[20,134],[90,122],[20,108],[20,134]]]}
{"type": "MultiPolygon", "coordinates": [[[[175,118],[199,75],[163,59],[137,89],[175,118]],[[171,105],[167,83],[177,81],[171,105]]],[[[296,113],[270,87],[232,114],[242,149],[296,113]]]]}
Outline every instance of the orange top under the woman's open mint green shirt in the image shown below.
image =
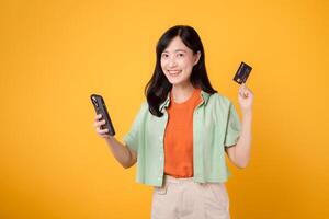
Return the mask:
{"type": "Polygon", "coordinates": [[[168,175],[193,176],[193,112],[201,101],[201,89],[195,89],[183,103],[175,103],[172,92],[170,94],[164,132],[164,173],[168,175]]]}

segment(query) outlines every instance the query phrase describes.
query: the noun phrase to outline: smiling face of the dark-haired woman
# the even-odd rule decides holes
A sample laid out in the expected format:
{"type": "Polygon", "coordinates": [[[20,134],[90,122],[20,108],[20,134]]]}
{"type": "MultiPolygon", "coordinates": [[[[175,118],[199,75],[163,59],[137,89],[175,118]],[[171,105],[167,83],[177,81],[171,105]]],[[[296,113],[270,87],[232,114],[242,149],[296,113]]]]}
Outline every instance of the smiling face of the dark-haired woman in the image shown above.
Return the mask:
{"type": "Polygon", "coordinates": [[[190,83],[193,66],[197,64],[201,53],[185,46],[182,39],[174,37],[161,54],[161,68],[172,85],[190,83]]]}

